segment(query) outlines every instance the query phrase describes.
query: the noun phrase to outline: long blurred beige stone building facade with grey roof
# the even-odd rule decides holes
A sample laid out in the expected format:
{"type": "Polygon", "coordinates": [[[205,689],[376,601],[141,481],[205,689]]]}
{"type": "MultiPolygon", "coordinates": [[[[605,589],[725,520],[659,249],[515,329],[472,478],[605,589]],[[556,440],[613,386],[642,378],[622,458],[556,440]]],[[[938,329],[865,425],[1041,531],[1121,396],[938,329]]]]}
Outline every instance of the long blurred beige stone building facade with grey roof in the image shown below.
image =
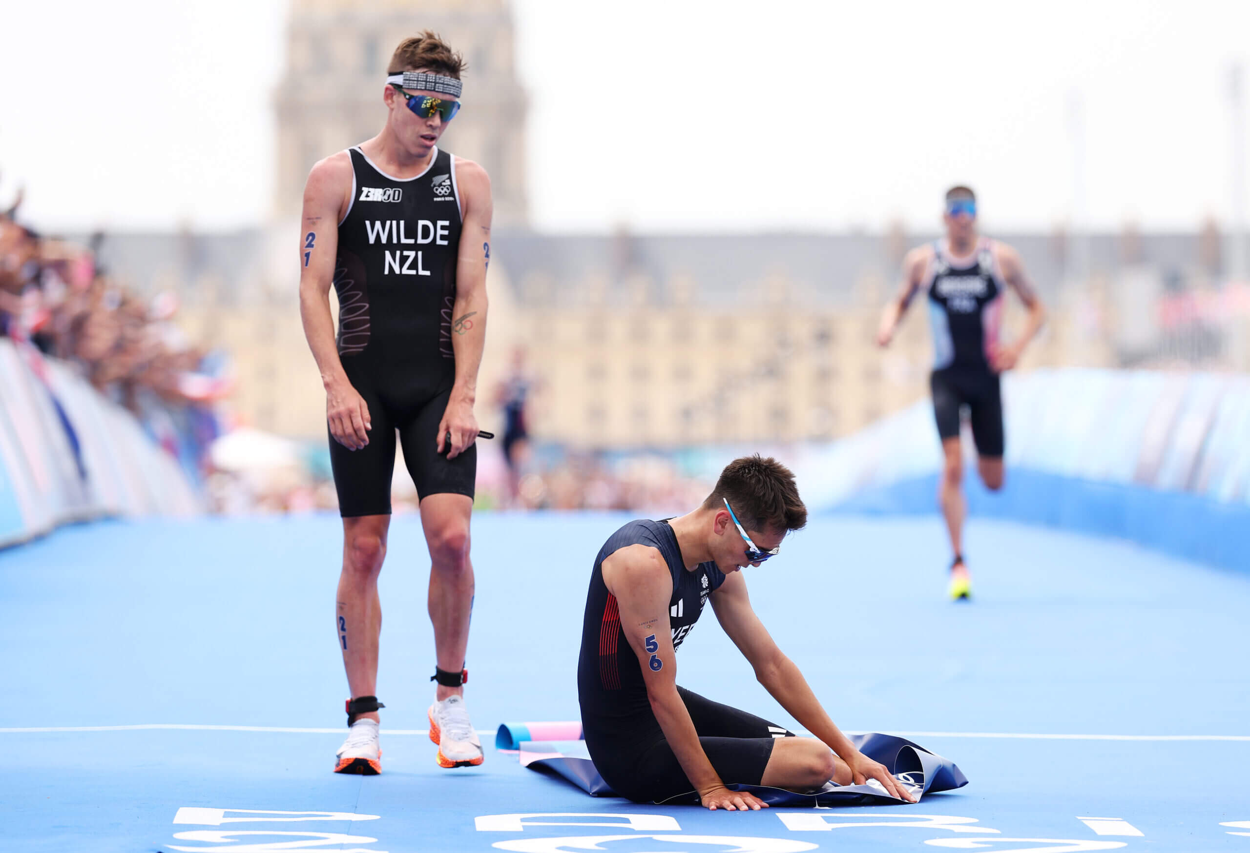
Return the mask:
{"type": "MultiPolygon", "coordinates": [[[[170,239],[118,237],[112,252],[122,240],[139,259],[159,256],[170,239]]],[[[210,267],[218,240],[205,239],[210,267]]],[[[1042,239],[1008,240],[1034,267],[1051,313],[1021,368],[1115,363],[1106,288],[1096,281],[1061,287],[1038,254],[1042,239]]],[[[225,262],[241,241],[220,241],[225,262]]],[[[254,246],[262,242],[254,236],[254,246]]],[[[924,305],[912,306],[889,350],[874,341],[895,287],[885,242],[869,235],[501,231],[488,281],[479,418],[485,428],[501,426],[494,388],[521,347],[538,380],[531,427],[542,440],[674,447],[854,432],[928,393],[924,305]],[[621,257],[632,260],[622,266],[621,257]]],[[[241,417],[284,435],[322,435],[325,397],[294,295],[265,288],[259,269],[154,279],[179,281],[189,335],[234,356],[241,417]]],[[[1010,336],[1022,311],[1008,300],[1010,336]]]]}

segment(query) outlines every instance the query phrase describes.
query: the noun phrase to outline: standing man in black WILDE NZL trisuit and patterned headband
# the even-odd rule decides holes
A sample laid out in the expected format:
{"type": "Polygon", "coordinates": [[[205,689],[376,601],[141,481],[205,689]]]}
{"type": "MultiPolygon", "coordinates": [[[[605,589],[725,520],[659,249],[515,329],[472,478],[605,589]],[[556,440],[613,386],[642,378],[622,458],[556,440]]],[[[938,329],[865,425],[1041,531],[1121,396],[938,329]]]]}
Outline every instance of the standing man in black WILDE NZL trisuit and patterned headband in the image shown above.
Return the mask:
{"type": "Polygon", "coordinates": [[[436,145],[460,109],[461,67],[460,55],[432,32],[401,42],[382,90],[386,124],[371,140],[316,164],[304,191],[300,311],[326,391],[344,532],[335,628],[351,698],[339,773],[381,772],[378,574],[396,430],[431,561],[438,688],[430,737],[442,767],[482,761],[461,683],[474,597],[469,516],[490,180],[478,164],[436,145]]]}

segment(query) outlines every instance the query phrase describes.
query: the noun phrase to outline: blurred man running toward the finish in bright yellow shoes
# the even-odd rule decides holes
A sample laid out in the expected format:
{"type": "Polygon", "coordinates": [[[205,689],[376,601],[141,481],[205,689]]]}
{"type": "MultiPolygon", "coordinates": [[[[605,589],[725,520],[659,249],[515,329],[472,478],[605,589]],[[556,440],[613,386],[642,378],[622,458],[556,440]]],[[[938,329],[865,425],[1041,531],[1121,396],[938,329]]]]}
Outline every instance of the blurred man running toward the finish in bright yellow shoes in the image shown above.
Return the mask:
{"type": "Polygon", "coordinates": [[[976,445],[976,470],[986,488],[1002,488],[1002,398],[999,376],[1020,360],[1045,320],[1016,250],[976,234],[976,196],[966,186],[946,192],[946,239],[912,249],[902,261],[902,286],[881,313],[878,343],[889,346],[899,320],[918,292],[929,301],[932,323],[934,370],[929,385],[941,437],[942,476],[939,501],[954,558],[950,596],[971,594],[964,563],[964,456],[960,447],[960,410],[968,407],[976,445]],[[1002,343],[999,332],[1002,296],[1014,287],[1029,310],[1024,333],[1002,343]]]}

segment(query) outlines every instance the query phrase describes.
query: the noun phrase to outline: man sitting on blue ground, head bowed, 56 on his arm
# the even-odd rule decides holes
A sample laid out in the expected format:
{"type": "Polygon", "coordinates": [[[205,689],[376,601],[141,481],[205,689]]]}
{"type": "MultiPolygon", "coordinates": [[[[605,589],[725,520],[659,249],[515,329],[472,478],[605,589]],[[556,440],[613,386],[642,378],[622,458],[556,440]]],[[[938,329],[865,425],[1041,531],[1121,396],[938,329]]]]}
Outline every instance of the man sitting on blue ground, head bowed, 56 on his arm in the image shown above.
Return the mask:
{"type": "Polygon", "coordinates": [[[600,548],[578,698],[586,748],[619,794],[664,802],[698,792],[712,811],[758,809],[764,803],[725,786],[810,791],[872,778],[915,802],[842,736],[751,609],[739,569],[776,556],[786,532],[806,521],[794,475],[776,460],[745,456],[725,466],[699,508],[631,521],[600,548]],[[815,738],[678,687],[676,648],[708,601],[759,682],[815,738]]]}

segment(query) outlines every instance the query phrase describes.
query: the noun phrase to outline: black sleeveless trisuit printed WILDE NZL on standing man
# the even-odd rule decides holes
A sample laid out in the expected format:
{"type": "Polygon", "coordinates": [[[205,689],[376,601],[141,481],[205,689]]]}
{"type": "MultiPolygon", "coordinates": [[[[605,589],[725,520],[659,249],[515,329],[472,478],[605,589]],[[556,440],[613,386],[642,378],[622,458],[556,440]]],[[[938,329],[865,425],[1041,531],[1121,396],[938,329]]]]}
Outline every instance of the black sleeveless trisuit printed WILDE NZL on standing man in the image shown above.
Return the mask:
{"type": "Polygon", "coordinates": [[[455,381],[460,195],[454,159],[434,149],[416,177],[381,172],[350,149],[351,206],[339,224],[334,287],[339,358],[369,406],[369,443],[351,451],[330,437],[344,517],[390,512],[395,431],[418,496],[472,497],[478,448],[448,460],[435,435],[455,381]]]}

